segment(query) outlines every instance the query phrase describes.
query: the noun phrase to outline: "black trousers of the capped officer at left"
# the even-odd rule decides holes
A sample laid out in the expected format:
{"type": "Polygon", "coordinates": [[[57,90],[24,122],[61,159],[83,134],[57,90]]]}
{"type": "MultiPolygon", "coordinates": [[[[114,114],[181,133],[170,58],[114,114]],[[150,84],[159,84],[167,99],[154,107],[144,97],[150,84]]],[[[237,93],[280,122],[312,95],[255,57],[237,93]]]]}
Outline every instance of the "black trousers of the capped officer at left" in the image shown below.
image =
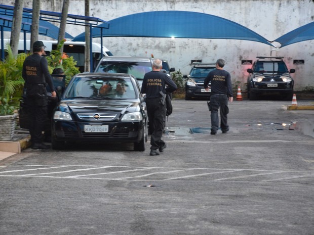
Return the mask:
{"type": "Polygon", "coordinates": [[[44,129],[45,121],[47,120],[47,97],[27,97],[28,102],[28,116],[30,120],[29,133],[32,145],[41,144],[42,131],[44,129]]]}

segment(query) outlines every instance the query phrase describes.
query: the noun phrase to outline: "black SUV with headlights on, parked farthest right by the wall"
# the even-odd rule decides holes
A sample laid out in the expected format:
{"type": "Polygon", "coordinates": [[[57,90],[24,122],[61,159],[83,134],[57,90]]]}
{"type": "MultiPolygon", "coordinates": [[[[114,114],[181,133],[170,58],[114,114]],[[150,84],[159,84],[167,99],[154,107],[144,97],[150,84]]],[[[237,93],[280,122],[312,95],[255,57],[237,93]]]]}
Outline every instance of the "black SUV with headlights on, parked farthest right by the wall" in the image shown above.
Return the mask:
{"type": "Polygon", "coordinates": [[[283,57],[257,57],[253,63],[248,77],[248,98],[256,100],[258,95],[279,94],[286,100],[292,100],[293,79],[290,73],[295,69],[288,70],[283,57]]]}

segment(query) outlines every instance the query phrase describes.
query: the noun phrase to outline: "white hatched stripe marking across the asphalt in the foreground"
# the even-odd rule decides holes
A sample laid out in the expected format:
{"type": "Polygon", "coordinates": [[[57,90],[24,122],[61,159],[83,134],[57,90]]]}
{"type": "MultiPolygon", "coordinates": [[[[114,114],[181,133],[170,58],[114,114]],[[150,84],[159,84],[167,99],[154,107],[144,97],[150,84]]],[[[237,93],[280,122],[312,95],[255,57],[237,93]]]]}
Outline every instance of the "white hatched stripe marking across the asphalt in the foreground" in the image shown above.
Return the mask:
{"type": "MultiPolygon", "coordinates": [[[[0,168],[2,169],[2,168],[0,168]]],[[[87,172],[89,173],[89,172],[87,172]]],[[[206,180],[208,181],[223,181],[223,180],[234,180],[234,179],[246,179],[250,177],[256,176],[264,176],[264,175],[273,175],[273,174],[281,174],[281,178],[276,178],[272,176],[272,179],[262,179],[257,178],[254,182],[273,182],[273,181],[280,181],[280,180],[289,180],[295,178],[304,178],[304,177],[313,177],[314,173],[312,171],[293,171],[293,170],[262,170],[262,169],[222,169],[222,168],[182,168],[182,167],[143,167],[143,166],[91,166],[91,165],[61,165],[61,166],[43,166],[43,165],[25,165],[25,166],[8,166],[6,167],[6,171],[1,172],[0,170],[0,177],[46,177],[46,178],[69,178],[69,179],[100,179],[100,180],[130,180],[130,181],[143,181],[143,180],[154,180],[154,181],[165,181],[165,180],[175,180],[175,179],[186,179],[186,178],[197,178],[200,176],[205,175],[214,175],[214,174],[222,174],[216,178],[208,177],[206,180]],[[22,168],[25,169],[22,169],[22,168]],[[32,168],[33,167],[33,168],[32,168]],[[74,169],[64,170],[64,171],[52,171],[53,169],[59,168],[69,168],[72,167],[74,169]],[[77,169],[77,168],[80,169],[77,169]],[[8,170],[12,169],[13,170],[8,170]],[[117,170],[111,169],[110,170],[102,170],[108,168],[118,168],[117,170]],[[119,169],[120,168],[120,169],[119,169]],[[47,170],[47,171],[46,171],[47,170]],[[93,170],[100,170],[100,173],[95,173],[93,170]],[[115,171],[114,171],[115,170],[115,171]],[[145,174],[141,174],[141,171],[148,171],[145,174]],[[150,171],[151,170],[151,171],[150,171]],[[188,175],[187,172],[194,170],[197,174],[190,174],[188,175]],[[23,174],[23,172],[33,171],[38,173],[31,173],[31,174],[23,174]],[[46,172],[45,172],[46,171],[46,172]],[[77,174],[77,172],[82,171],[92,171],[91,174],[77,174]],[[103,171],[103,172],[101,172],[103,171]],[[205,172],[204,172],[205,171],[205,172]],[[22,174],[20,174],[22,172],[22,174]],[[71,173],[76,172],[76,174],[69,175],[71,173]],[[128,175],[129,172],[138,172],[132,173],[128,175]],[[170,177],[176,176],[175,173],[183,172],[185,174],[183,176],[177,175],[177,177],[170,177]],[[185,173],[186,172],[186,173],[185,173]],[[201,173],[202,172],[202,173],[201,173]],[[231,177],[223,177],[226,174],[230,174],[232,172],[242,172],[238,173],[238,175],[234,175],[231,177]],[[255,174],[250,174],[256,172],[255,174]],[[10,175],[9,175],[9,174],[10,175]],[[15,174],[16,173],[16,174],[15,174]],[[67,174],[66,176],[62,176],[63,174],[67,174]],[[125,173],[125,175],[124,175],[125,173]],[[200,173],[200,174],[198,174],[200,173]],[[120,174],[120,175],[117,175],[120,174]],[[121,175],[122,174],[122,175],[121,175]],[[167,175],[169,174],[169,175],[167,175]],[[171,175],[174,174],[174,175],[171,175]],[[239,175],[240,174],[240,175],[239,175]],[[285,176],[283,176],[285,174],[285,176]],[[93,176],[100,176],[100,175],[110,175],[113,177],[93,177],[93,176]],[[162,175],[162,177],[149,177],[152,175],[162,175]],[[146,178],[145,178],[146,177],[146,178]]],[[[251,179],[252,180],[252,179],[251,179]]],[[[241,182],[244,182],[243,180],[241,182]]],[[[246,180],[246,182],[253,182],[250,180],[246,180]]]]}

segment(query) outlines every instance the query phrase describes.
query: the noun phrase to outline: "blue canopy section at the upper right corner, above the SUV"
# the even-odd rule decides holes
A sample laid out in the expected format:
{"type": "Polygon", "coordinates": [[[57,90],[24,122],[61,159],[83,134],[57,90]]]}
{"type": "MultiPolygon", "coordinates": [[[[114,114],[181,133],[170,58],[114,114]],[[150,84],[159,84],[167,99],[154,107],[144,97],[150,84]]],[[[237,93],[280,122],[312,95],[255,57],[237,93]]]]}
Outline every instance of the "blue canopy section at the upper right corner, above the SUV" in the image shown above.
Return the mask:
{"type": "Polygon", "coordinates": [[[283,48],[286,45],[312,39],[314,39],[314,22],[311,22],[295,30],[292,30],[274,41],[281,43],[280,47],[283,48]]]}

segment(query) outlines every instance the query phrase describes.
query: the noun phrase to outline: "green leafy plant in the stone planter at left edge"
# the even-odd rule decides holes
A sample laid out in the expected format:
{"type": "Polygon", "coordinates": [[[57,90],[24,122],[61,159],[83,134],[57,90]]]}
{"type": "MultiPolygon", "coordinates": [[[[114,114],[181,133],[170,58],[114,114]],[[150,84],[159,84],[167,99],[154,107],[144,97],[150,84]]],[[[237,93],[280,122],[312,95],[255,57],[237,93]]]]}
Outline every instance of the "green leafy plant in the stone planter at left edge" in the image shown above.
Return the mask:
{"type": "Polygon", "coordinates": [[[19,108],[23,92],[23,63],[26,54],[13,55],[7,44],[6,59],[0,62],[0,115],[12,115],[19,108]]]}

